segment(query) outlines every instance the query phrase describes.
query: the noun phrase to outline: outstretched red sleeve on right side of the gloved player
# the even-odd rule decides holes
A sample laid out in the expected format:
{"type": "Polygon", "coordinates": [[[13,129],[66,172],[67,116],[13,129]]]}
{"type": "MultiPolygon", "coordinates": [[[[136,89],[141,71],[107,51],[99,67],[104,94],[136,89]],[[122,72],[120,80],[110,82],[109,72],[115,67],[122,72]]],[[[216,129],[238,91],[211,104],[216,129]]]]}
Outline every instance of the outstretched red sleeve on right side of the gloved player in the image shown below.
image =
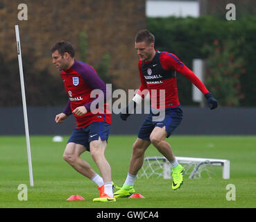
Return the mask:
{"type": "Polygon", "coordinates": [[[198,87],[203,94],[207,94],[207,92],[209,92],[201,80],[194,74],[194,72],[186,67],[184,63],[181,62],[173,53],[162,52],[160,62],[164,69],[174,69],[182,74],[182,76],[185,76],[191,81],[191,83],[196,85],[196,87],[198,87]]]}

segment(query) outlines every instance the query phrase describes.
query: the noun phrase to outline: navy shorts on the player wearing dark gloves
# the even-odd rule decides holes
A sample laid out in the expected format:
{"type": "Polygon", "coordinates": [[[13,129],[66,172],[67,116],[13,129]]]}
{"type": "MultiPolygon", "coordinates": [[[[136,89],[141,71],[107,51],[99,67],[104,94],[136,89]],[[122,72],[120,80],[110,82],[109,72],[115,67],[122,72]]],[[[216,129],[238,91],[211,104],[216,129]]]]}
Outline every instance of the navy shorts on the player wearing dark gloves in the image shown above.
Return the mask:
{"type": "Polygon", "coordinates": [[[150,112],[142,126],[139,128],[138,137],[139,139],[146,139],[150,141],[150,135],[153,129],[158,126],[160,128],[165,126],[167,131],[167,138],[173,133],[173,131],[178,127],[182,121],[183,112],[180,105],[176,108],[168,108],[164,110],[164,119],[161,121],[153,121],[153,117],[157,116],[150,112]]]}

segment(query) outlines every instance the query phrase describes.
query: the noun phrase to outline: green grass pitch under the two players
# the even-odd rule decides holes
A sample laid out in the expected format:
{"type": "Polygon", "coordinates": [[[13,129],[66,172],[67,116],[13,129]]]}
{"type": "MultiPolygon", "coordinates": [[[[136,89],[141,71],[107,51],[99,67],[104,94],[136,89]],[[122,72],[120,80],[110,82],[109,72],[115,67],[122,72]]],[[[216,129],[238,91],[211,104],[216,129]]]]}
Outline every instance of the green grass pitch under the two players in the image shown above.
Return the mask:
{"type": "MultiPolygon", "coordinates": [[[[215,178],[185,177],[181,189],[173,191],[171,180],[137,178],[135,190],[145,198],[119,198],[116,203],[93,203],[99,196],[96,185],[62,159],[68,137],[52,142],[52,136],[31,136],[34,186],[29,185],[26,139],[0,137],[1,208],[233,208],[256,207],[256,137],[253,136],[175,136],[167,141],[176,156],[209,157],[230,160],[230,179],[223,180],[221,167],[213,167],[215,178]],[[18,186],[26,184],[28,200],[18,199],[18,186]],[[227,200],[226,186],[235,186],[235,200],[227,200]],[[67,201],[79,194],[85,201],[67,201]]],[[[111,135],[106,157],[112,167],[112,180],[121,186],[126,179],[132,145],[136,136],[111,135]]],[[[160,156],[151,145],[146,156],[160,156]]],[[[88,152],[83,153],[99,173],[88,152]]]]}

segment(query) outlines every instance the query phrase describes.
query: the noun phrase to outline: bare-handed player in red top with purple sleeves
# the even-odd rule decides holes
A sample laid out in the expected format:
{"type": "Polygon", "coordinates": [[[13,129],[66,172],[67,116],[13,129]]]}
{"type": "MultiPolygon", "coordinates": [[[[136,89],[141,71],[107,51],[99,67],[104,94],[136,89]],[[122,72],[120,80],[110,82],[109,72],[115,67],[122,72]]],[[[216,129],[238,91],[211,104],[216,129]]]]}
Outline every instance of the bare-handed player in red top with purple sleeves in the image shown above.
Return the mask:
{"type": "Polygon", "coordinates": [[[60,70],[69,101],[65,109],[56,115],[56,123],[62,123],[70,114],[76,118],[76,129],[71,134],[63,155],[71,167],[83,176],[89,178],[98,185],[99,198],[94,202],[114,202],[111,168],[105,159],[105,148],[110,133],[111,116],[106,101],[106,85],[89,65],[75,60],[74,48],[69,42],[57,42],[51,49],[53,64],[60,70]],[[93,89],[101,89],[98,101],[103,101],[104,112],[96,112],[101,107],[95,105],[90,98],[93,89]],[[101,97],[101,98],[100,98],[101,97]],[[96,114],[95,114],[96,113],[96,114]],[[96,162],[101,176],[93,171],[92,167],[83,160],[80,155],[89,151],[96,162]]]}

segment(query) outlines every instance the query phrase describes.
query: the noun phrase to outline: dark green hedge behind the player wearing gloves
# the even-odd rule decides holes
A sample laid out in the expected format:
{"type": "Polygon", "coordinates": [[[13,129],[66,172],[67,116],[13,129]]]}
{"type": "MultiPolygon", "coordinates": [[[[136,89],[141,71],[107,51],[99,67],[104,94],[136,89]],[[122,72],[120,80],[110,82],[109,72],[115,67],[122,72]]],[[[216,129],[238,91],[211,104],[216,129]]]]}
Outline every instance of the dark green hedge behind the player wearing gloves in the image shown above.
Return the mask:
{"type": "MultiPolygon", "coordinates": [[[[213,87],[216,87],[216,81],[214,81],[216,75],[224,75],[227,73],[226,70],[233,71],[229,74],[229,78],[225,78],[225,81],[230,80],[230,86],[237,87],[239,92],[233,93],[236,98],[228,97],[223,100],[221,105],[256,106],[255,24],[255,16],[242,17],[235,21],[203,16],[198,18],[148,18],[147,27],[155,35],[156,49],[175,53],[187,67],[192,68],[194,58],[207,60],[208,68],[211,68],[211,71],[207,69],[206,85],[211,91],[214,90],[213,87]],[[219,53],[219,55],[214,55],[214,53],[219,53]],[[232,58],[231,62],[228,62],[227,56],[232,58]],[[220,61],[219,58],[223,58],[223,60],[220,61]],[[209,60],[214,61],[209,62],[209,60]],[[219,69],[213,69],[214,67],[210,67],[210,65],[218,66],[219,69]],[[237,66],[239,69],[231,69],[230,66],[237,66]],[[212,71],[218,73],[212,73],[212,71]],[[236,81],[236,85],[231,83],[234,82],[234,76],[235,78],[239,76],[239,82],[236,81]],[[214,84],[211,85],[213,82],[214,84]],[[228,103],[229,98],[238,102],[228,103]]],[[[195,103],[191,100],[191,83],[180,76],[178,75],[180,101],[183,105],[193,105],[195,103]]],[[[223,89],[221,92],[223,94],[219,94],[219,98],[217,98],[220,101],[222,96],[226,96],[227,91],[223,89]]]]}

